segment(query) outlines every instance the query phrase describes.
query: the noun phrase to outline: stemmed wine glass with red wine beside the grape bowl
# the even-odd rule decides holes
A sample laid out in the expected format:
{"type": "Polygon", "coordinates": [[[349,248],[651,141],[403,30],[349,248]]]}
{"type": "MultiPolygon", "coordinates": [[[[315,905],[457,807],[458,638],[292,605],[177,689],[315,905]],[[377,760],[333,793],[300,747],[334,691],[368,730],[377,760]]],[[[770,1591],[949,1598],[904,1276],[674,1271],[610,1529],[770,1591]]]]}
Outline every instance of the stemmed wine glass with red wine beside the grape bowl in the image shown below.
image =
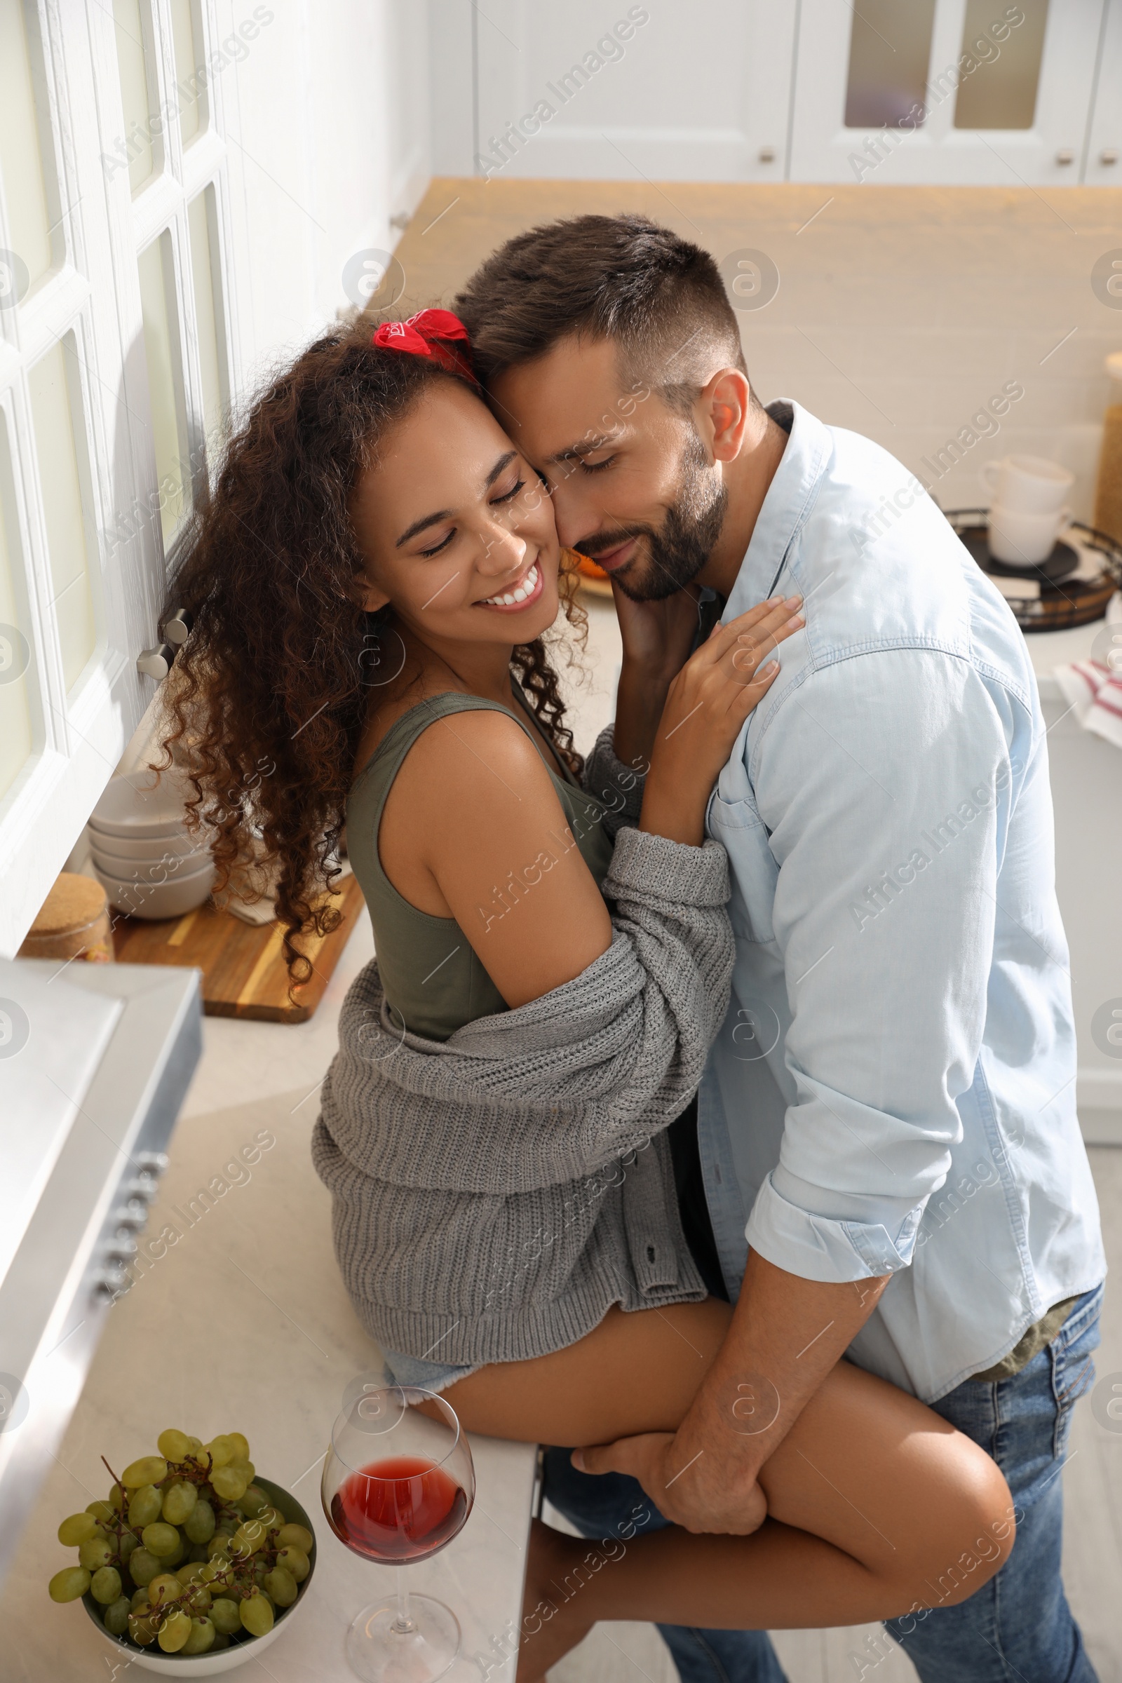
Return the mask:
{"type": "Polygon", "coordinates": [[[444,1548],[471,1513],[476,1474],[456,1410],[417,1385],[365,1392],[331,1427],[321,1488],[338,1540],[397,1567],[397,1594],[347,1633],[352,1670],[365,1683],[432,1683],[459,1653],[459,1621],[409,1592],[405,1562],[444,1548]]]}

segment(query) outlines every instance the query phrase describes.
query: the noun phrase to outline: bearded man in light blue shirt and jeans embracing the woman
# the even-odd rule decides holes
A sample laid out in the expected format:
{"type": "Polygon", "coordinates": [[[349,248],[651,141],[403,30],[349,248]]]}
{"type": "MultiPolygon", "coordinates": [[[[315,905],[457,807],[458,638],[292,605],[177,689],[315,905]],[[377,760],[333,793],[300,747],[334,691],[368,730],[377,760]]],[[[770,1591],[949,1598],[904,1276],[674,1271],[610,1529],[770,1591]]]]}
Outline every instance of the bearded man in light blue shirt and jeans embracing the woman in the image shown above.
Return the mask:
{"type": "MultiPolygon", "coordinates": [[[[1016,1503],[989,1585],[954,1607],[932,1585],[930,1607],[892,1621],[920,1676],[1087,1683],[1060,1468],[1105,1261],[1021,633],[886,451],[797,404],[760,407],[713,261],[669,231],[535,229],[456,308],[562,544],[612,579],[621,759],[649,751],[698,587],[727,618],[806,603],[708,813],[737,968],[698,1151],[735,1316],[675,1436],[577,1461],[632,1474],[668,1521],[737,1530],[848,1355],[981,1442],[1016,1503]]],[[[579,1496],[555,1500],[579,1518],[579,1496]]],[[[710,1634],[742,1644],[725,1671],[781,1676],[765,1638],[710,1634]]]]}

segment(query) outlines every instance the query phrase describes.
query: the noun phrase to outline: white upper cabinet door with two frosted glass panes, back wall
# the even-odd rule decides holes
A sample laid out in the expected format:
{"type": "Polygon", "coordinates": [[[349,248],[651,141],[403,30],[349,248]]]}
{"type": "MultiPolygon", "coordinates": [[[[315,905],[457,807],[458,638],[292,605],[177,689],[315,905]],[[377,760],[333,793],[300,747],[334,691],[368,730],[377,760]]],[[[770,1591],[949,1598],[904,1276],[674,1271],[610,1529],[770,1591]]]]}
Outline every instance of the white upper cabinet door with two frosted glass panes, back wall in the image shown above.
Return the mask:
{"type": "Polygon", "coordinates": [[[1077,183],[1105,5],[802,0],[791,180],[1077,183]]]}

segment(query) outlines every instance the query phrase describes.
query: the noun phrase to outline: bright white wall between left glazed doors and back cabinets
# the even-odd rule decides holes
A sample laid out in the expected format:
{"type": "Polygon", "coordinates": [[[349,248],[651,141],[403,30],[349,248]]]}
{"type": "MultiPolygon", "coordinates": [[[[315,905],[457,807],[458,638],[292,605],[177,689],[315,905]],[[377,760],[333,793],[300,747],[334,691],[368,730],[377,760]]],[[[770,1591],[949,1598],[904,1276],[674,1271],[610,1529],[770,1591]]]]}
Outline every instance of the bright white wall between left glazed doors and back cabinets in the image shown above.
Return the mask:
{"type": "MultiPolygon", "coordinates": [[[[244,0],[222,0],[232,19],[244,0]]],[[[227,74],[242,385],[348,305],[355,252],[390,252],[429,180],[427,13],[409,0],[273,0],[227,74]]]]}

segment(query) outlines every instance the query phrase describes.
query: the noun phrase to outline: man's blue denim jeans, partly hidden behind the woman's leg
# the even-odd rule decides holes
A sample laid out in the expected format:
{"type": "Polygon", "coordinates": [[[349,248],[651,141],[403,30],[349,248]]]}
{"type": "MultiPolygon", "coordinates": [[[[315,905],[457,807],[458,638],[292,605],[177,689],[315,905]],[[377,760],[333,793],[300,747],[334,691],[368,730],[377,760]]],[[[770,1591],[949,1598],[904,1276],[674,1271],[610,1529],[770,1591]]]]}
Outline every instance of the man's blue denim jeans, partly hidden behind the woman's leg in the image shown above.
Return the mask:
{"type": "MultiPolygon", "coordinates": [[[[1013,1495],[1018,1533],[996,1577],[957,1607],[892,1619],[924,1683],[1097,1683],[1060,1580],[1072,1407],[1095,1378],[1102,1286],[1072,1309],[1046,1350],[1014,1378],[967,1380],[940,1414],[986,1449],[1013,1495]]],[[[627,1537],[668,1521],[636,1479],[577,1473],[567,1449],[545,1452],[545,1495],[584,1537],[627,1537]]],[[[659,1624],[683,1683],[784,1683],[765,1631],[698,1631],[659,1624]]],[[[856,1644],[855,1644],[856,1649],[856,1644]]],[[[855,1651],[855,1678],[875,1678],[883,1648],[855,1651]]]]}

